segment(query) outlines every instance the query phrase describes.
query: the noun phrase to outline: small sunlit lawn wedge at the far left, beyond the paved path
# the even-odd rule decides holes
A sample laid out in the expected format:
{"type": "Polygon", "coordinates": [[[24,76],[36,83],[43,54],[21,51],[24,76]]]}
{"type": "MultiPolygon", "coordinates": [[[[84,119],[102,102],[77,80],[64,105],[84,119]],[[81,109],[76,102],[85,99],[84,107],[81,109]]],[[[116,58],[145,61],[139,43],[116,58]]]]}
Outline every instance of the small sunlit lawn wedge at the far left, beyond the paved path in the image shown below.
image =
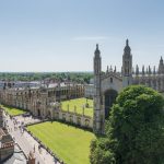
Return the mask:
{"type": "Polygon", "coordinates": [[[1,107],[10,115],[10,116],[16,116],[16,115],[22,115],[25,114],[26,112],[23,109],[14,108],[14,107],[9,107],[1,105],[1,107]]]}

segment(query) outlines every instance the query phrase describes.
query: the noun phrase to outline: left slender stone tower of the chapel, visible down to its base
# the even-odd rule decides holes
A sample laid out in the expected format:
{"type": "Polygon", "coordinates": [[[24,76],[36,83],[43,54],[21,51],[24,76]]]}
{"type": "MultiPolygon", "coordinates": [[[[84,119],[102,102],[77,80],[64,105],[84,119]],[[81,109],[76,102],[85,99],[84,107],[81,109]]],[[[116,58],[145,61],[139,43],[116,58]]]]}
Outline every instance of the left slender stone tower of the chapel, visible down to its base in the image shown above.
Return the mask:
{"type": "Polygon", "coordinates": [[[101,101],[101,72],[102,72],[102,58],[98,45],[94,52],[94,116],[93,116],[93,130],[95,133],[103,133],[104,131],[104,115],[101,101]]]}

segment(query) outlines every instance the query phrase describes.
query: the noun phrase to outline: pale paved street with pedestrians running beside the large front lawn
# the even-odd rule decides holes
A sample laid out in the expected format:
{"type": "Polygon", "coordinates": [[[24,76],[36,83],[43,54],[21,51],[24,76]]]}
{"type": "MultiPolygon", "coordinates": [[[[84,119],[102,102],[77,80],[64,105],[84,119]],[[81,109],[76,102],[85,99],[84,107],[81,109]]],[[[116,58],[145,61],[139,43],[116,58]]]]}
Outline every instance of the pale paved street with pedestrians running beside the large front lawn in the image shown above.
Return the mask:
{"type": "Polygon", "coordinates": [[[34,154],[36,157],[36,164],[55,164],[54,157],[45,149],[40,149],[42,151],[38,151],[39,143],[35,141],[33,137],[31,137],[26,131],[22,133],[19,128],[14,130],[13,120],[11,120],[9,116],[5,116],[5,120],[8,120],[7,125],[10,129],[9,132],[15,138],[15,142],[21,147],[26,156],[30,154],[30,151],[34,152],[35,147],[34,154]]]}

